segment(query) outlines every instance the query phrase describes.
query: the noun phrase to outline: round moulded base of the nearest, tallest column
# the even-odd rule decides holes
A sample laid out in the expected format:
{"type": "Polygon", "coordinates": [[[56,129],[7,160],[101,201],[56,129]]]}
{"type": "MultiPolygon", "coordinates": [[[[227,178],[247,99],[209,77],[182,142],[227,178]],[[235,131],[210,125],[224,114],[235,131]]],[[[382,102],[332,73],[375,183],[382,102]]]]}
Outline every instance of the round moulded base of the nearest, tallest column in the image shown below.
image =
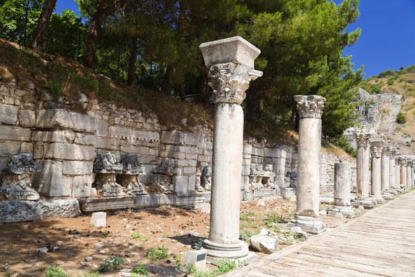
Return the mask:
{"type": "Polygon", "coordinates": [[[239,241],[236,244],[221,244],[205,240],[204,249],[208,250],[208,260],[235,259],[248,256],[248,244],[239,241]]]}

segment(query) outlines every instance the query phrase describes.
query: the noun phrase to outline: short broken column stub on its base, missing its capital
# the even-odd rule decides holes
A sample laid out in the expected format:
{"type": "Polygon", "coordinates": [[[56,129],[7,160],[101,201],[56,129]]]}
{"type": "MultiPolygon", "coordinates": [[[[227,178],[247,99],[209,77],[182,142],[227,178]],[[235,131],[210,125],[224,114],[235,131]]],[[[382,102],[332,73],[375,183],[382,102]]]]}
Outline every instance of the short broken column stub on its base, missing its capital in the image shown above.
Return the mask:
{"type": "Polygon", "coordinates": [[[343,216],[355,217],[351,208],[351,168],[349,163],[334,164],[334,202],[328,215],[335,216],[341,213],[343,216]]]}

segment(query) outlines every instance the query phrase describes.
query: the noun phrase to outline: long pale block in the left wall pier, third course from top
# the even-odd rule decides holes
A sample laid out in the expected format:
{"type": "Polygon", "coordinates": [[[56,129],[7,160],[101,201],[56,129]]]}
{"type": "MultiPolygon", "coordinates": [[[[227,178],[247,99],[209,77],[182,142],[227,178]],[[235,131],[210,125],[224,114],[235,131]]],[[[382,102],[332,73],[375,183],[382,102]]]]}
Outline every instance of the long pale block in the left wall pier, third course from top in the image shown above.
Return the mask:
{"type": "Polygon", "coordinates": [[[45,145],[44,157],[45,159],[93,161],[95,148],[68,143],[51,143],[45,145]]]}

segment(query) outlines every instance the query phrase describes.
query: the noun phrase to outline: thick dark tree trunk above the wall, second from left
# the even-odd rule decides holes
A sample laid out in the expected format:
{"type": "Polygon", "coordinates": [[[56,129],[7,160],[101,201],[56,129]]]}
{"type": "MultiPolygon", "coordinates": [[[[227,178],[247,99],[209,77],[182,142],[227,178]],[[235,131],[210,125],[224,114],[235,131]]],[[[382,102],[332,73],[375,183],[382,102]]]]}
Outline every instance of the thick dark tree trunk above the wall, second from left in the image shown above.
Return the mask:
{"type": "Polygon", "coordinates": [[[98,36],[100,35],[101,24],[102,24],[102,13],[104,0],[98,1],[98,7],[88,28],[88,35],[86,36],[86,46],[84,53],[84,66],[93,69],[95,66],[95,53],[97,52],[98,36]]]}

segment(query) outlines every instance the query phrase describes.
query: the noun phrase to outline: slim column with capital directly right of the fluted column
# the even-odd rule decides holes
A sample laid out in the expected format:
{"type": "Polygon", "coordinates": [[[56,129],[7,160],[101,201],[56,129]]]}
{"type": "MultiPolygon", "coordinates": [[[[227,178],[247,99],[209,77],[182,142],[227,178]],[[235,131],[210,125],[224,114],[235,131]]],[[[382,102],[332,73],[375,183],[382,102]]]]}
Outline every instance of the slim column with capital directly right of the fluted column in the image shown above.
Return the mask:
{"type": "Polygon", "coordinates": [[[376,198],[376,202],[382,203],[381,176],[382,176],[382,148],[385,143],[382,141],[372,141],[371,143],[371,195],[376,198]]]}

